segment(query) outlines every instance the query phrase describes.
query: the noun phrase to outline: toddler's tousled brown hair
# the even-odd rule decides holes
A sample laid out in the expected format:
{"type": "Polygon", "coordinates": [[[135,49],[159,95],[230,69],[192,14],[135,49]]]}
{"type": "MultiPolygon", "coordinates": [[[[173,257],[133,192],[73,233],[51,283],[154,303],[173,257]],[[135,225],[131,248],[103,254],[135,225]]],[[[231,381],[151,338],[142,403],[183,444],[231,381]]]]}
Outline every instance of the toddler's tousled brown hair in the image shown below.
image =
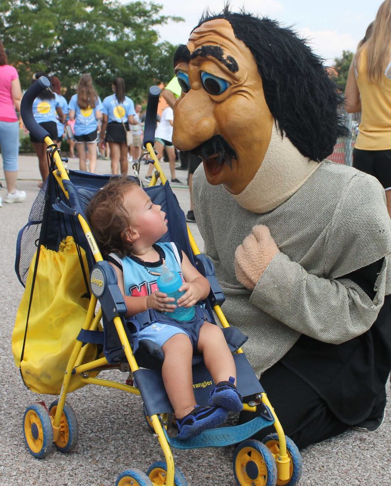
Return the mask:
{"type": "Polygon", "coordinates": [[[138,184],[124,177],[111,178],[91,199],[87,219],[103,255],[113,252],[121,258],[132,254],[126,240],[131,214],[124,208],[124,195],[138,184]]]}

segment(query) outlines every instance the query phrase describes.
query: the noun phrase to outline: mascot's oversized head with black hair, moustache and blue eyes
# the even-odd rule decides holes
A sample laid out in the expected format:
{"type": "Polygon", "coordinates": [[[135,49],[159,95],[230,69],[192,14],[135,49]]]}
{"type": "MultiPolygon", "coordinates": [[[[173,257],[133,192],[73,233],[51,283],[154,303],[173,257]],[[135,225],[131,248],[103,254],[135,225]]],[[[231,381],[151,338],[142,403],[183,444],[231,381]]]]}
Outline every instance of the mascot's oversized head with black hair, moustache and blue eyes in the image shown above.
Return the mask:
{"type": "Polygon", "coordinates": [[[226,8],[204,15],[179,46],[182,88],[173,142],[202,157],[212,185],[242,192],[258,172],[273,123],[304,157],[321,161],[347,130],[341,97],[315,56],[277,22],[226,8]]]}

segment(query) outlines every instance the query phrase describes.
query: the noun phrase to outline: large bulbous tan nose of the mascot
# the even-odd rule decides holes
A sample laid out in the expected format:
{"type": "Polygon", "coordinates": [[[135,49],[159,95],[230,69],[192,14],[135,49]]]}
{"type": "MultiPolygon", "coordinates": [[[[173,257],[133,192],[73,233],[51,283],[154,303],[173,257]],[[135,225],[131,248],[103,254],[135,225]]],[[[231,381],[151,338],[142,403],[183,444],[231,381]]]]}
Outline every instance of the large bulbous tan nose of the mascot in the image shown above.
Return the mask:
{"type": "Polygon", "coordinates": [[[173,144],[192,150],[219,133],[213,102],[204,90],[190,90],[174,108],[173,144]]]}

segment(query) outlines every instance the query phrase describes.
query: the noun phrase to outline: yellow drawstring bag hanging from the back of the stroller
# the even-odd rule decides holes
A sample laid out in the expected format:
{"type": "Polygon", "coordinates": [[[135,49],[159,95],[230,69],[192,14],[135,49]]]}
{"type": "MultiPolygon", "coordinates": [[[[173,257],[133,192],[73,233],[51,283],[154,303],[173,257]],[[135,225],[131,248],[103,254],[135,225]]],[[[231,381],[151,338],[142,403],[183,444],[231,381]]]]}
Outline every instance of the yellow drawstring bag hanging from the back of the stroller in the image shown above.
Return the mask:
{"type": "MultiPolygon", "coordinates": [[[[80,247],[79,251],[88,275],[85,251],[80,247]]],[[[60,243],[58,251],[41,245],[35,274],[36,255],[18,308],[12,351],[30,390],[59,395],[75,339],[87,315],[89,295],[71,236],[60,243]]],[[[96,345],[90,345],[86,360],[95,356],[96,345]]],[[[70,391],[85,385],[78,378],[72,380],[70,391]]]]}

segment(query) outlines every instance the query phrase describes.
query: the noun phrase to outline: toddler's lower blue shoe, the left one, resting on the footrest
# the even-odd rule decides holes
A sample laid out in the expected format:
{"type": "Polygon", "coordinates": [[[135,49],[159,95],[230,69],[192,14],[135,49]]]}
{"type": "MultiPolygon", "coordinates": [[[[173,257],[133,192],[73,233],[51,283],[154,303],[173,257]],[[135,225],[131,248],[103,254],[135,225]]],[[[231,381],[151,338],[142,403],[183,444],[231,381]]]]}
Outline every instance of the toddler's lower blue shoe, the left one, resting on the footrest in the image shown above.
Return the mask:
{"type": "Polygon", "coordinates": [[[228,412],[221,407],[196,407],[182,418],[177,418],[178,439],[188,440],[204,430],[214,429],[227,420],[228,412]]]}

